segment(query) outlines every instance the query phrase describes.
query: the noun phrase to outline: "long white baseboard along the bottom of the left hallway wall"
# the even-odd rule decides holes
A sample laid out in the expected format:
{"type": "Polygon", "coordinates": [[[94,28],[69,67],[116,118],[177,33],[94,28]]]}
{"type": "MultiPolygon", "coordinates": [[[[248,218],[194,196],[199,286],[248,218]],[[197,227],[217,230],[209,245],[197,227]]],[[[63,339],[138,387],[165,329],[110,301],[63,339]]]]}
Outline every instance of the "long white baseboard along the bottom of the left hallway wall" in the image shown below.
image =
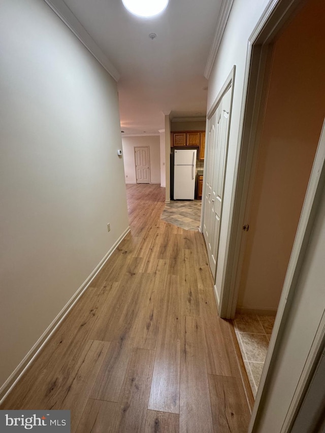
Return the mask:
{"type": "Polygon", "coordinates": [[[0,387],[0,405],[3,403],[7,395],[13,390],[16,383],[19,381],[21,376],[28,369],[29,365],[35,359],[35,357],[39,354],[39,352],[43,349],[48,340],[52,337],[53,333],[60,325],[62,320],[67,316],[72,307],[76,304],[80,296],[84,293],[85,290],[89,287],[91,281],[95,278],[95,276],[101,271],[107,260],[110,258],[112,253],[116,250],[117,246],[122,242],[125,236],[130,231],[130,227],[128,226],[126,230],[122,233],[122,235],[118,238],[118,240],[112,245],[109,251],[105,254],[96,268],[92,271],[89,277],[83,282],[83,284],[79,287],[76,293],[71,297],[68,303],[62,308],[59,314],[55,317],[53,322],[48,326],[48,328],[43,332],[43,335],[39,338],[39,340],[35,343],[35,345],[29,350],[27,355],[20,362],[18,367],[14,370],[14,372],[9,376],[6,382],[0,387]]]}

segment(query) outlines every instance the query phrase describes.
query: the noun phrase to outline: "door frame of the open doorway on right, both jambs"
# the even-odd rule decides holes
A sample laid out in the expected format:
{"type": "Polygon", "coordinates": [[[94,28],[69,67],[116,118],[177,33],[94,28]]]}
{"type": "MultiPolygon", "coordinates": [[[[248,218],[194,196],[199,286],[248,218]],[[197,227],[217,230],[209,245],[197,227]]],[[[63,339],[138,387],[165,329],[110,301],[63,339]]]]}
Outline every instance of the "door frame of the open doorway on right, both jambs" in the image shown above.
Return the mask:
{"type": "MultiPolygon", "coordinates": [[[[219,315],[233,318],[238,299],[238,275],[241,271],[242,236],[246,211],[251,199],[251,179],[256,169],[259,137],[263,112],[266,105],[266,84],[270,74],[270,58],[272,58],[273,41],[280,34],[290,18],[306,3],[305,0],[273,0],[265,9],[255,26],[249,41],[246,56],[246,68],[243,87],[243,100],[240,117],[240,134],[237,144],[235,181],[231,195],[230,226],[226,240],[224,274],[221,286],[219,315]]],[[[266,396],[274,392],[272,388],[273,369],[276,366],[278,351],[281,346],[284,330],[290,314],[290,299],[300,282],[300,271],[304,263],[313,222],[321,201],[321,193],[325,185],[325,121],[318,144],[313,169],[311,172],[305,202],[299,221],[296,239],[291,252],[290,261],[283,285],[278,312],[273,328],[272,338],[267,353],[261,382],[257,391],[252,411],[249,432],[259,431],[258,421],[265,408],[266,396]]],[[[291,314],[294,314],[291,312],[291,314]]],[[[318,318],[317,318],[318,320],[318,318]]],[[[281,432],[290,431],[293,421],[301,407],[308,389],[317,355],[322,347],[325,335],[324,317],[319,319],[319,327],[313,341],[302,342],[308,345],[309,353],[300,378],[295,382],[296,390],[291,398],[281,432]]],[[[264,430],[263,430],[264,431],[264,430]]]]}

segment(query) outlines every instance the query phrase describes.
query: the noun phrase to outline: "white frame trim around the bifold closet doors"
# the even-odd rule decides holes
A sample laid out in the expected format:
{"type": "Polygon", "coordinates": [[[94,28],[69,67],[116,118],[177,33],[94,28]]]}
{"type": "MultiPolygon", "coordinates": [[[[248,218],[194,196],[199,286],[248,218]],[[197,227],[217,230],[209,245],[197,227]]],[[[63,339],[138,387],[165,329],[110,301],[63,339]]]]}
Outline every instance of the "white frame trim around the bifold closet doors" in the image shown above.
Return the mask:
{"type": "MultiPolygon", "coordinates": [[[[224,161],[224,174],[223,177],[225,178],[226,175],[226,166],[227,166],[227,154],[228,154],[228,147],[229,147],[229,134],[230,134],[230,128],[231,128],[231,117],[232,117],[232,108],[233,108],[233,97],[234,97],[234,82],[235,82],[235,74],[236,74],[236,65],[233,66],[232,70],[230,71],[229,76],[226,78],[221,90],[219,91],[217,97],[215,98],[208,114],[207,114],[207,120],[206,120],[206,134],[205,134],[205,150],[204,150],[204,160],[207,161],[208,160],[208,151],[209,151],[209,122],[210,119],[212,118],[212,116],[214,115],[216,109],[218,108],[218,105],[220,104],[223,96],[225,95],[225,93],[231,88],[231,102],[230,102],[230,113],[229,113],[229,129],[228,129],[228,137],[226,138],[227,140],[227,145],[226,145],[226,156],[225,156],[225,161],[224,161]]],[[[201,221],[200,221],[200,231],[203,233],[204,230],[204,213],[205,213],[205,199],[203,199],[203,197],[205,197],[205,193],[206,193],[206,180],[207,177],[207,170],[204,170],[203,172],[203,190],[202,190],[202,210],[201,210],[201,221]]],[[[222,205],[221,205],[221,213],[220,213],[221,217],[220,217],[220,225],[219,225],[219,231],[220,231],[220,226],[221,226],[221,220],[222,220],[222,205]]],[[[220,239],[220,238],[219,238],[220,239]]],[[[219,241],[218,241],[219,243],[219,241]]],[[[219,250],[219,245],[217,246],[217,251],[219,250]]],[[[217,257],[216,257],[216,261],[218,263],[218,253],[217,253],[217,257]]],[[[217,267],[216,267],[217,268],[217,267]]],[[[213,284],[214,284],[214,295],[216,296],[217,299],[217,290],[216,290],[216,286],[215,286],[215,275],[216,273],[214,273],[213,275],[213,284]]],[[[218,303],[218,301],[217,301],[218,303]]]]}

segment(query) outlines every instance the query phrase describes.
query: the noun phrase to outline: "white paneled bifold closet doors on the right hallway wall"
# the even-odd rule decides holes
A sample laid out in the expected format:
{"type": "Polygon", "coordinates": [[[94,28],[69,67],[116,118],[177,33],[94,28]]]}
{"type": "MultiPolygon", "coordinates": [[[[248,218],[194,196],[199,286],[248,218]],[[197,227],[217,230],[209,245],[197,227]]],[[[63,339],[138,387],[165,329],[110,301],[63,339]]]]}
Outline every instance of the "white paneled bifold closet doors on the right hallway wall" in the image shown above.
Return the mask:
{"type": "Polygon", "coordinates": [[[226,155],[231,107],[231,88],[226,91],[209,119],[209,140],[203,234],[211,272],[215,275],[222,212],[226,155]]]}

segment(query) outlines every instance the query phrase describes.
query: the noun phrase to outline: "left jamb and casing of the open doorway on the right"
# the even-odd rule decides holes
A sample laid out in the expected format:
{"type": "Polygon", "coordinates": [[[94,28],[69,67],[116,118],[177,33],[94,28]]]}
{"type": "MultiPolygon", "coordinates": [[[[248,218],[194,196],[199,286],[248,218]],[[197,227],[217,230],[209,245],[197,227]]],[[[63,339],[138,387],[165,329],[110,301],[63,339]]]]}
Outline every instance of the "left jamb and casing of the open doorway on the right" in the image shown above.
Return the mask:
{"type": "MultiPolygon", "coordinates": [[[[252,198],[257,166],[259,139],[262,133],[267,87],[271,73],[273,41],[288,20],[306,0],[273,0],[256,24],[248,40],[243,99],[240,114],[235,182],[231,193],[231,215],[225,247],[219,316],[235,317],[239,279],[244,258],[243,225],[252,198]]],[[[245,237],[246,238],[246,237],[245,237]]]]}

